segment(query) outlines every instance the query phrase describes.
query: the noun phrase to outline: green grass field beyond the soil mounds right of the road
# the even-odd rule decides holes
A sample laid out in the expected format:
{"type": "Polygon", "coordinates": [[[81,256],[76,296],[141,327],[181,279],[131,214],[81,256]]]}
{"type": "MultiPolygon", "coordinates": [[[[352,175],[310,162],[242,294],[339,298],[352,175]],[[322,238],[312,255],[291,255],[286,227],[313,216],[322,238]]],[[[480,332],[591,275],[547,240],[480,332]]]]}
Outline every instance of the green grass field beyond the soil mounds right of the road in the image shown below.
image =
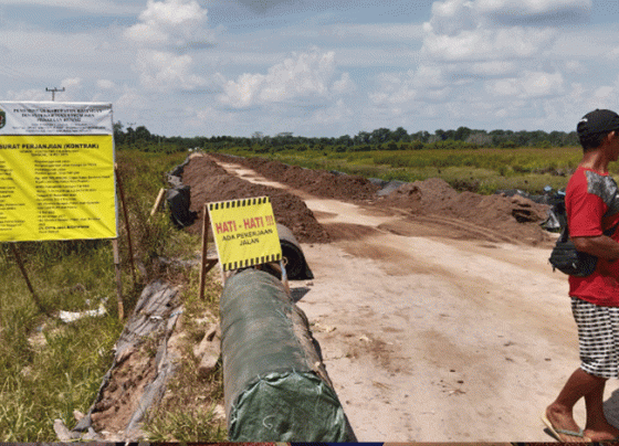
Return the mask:
{"type": "MultiPolygon", "coordinates": [[[[246,148],[232,155],[255,156],[246,148]]],[[[544,187],[564,188],[576,169],[580,148],[484,148],[423,150],[283,150],[260,155],[310,169],[337,170],[366,178],[417,181],[442,178],[457,190],[492,194],[502,189],[542,193],[544,187]]],[[[611,166],[619,174],[619,166],[611,166]]]]}

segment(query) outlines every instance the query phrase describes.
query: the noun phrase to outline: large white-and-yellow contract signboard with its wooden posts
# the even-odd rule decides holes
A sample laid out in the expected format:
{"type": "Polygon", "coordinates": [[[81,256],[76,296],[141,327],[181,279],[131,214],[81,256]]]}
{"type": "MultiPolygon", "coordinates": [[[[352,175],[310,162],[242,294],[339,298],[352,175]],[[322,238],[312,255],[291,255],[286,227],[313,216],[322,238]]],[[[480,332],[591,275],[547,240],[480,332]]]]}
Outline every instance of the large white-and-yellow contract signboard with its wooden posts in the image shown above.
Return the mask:
{"type": "Polygon", "coordinates": [[[0,242],[10,242],[33,299],[18,242],[109,238],[118,316],[124,317],[118,253],[119,191],[112,104],[0,102],[0,242]]]}

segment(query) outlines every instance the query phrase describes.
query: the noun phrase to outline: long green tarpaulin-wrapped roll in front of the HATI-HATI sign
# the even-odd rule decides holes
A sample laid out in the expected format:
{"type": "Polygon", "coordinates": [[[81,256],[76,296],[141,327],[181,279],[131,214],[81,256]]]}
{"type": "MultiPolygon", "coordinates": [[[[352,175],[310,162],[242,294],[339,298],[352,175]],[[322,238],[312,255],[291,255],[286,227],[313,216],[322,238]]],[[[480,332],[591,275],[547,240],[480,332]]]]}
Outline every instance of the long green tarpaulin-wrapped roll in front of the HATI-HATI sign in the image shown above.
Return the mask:
{"type": "Polygon", "coordinates": [[[356,442],[307,318],[280,280],[233,275],[220,311],[231,442],[356,442]]]}

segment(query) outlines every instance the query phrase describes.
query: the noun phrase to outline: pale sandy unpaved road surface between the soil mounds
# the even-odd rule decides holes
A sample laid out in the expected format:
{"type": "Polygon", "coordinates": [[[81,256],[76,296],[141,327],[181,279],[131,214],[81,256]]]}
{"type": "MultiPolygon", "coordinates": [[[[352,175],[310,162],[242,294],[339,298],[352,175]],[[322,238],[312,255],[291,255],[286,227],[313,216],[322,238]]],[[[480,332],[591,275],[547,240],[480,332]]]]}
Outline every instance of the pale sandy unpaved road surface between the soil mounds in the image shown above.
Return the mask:
{"type": "MultiPolygon", "coordinates": [[[[549,245],[291,192],[339,234],[302,244],[315,278],[292,287],[359,442],[552,440],[539,415],[578,365],[578,344],[549,245]]],[[[618,389],[609,382],[605,399],[616,424],[618,389]]],[[[584,423],[583,403],[576,416],[584,423]]]]}

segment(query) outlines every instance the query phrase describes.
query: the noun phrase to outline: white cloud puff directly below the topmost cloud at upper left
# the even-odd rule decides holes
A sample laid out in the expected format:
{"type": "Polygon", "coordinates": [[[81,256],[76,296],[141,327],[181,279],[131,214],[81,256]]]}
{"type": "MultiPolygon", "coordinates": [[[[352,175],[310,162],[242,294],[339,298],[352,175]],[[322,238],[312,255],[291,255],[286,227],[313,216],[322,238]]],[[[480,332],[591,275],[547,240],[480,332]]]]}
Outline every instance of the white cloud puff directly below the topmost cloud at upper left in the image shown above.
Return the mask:
{"type": "Polygon", "coordinates": [[[140,73],[141,85],[147,89],[190,91],[203,87],[209,82],[191,73],[193,60],[189,54],[177,55],[164,51],[140,51],[136,68],[140,73]]]}

